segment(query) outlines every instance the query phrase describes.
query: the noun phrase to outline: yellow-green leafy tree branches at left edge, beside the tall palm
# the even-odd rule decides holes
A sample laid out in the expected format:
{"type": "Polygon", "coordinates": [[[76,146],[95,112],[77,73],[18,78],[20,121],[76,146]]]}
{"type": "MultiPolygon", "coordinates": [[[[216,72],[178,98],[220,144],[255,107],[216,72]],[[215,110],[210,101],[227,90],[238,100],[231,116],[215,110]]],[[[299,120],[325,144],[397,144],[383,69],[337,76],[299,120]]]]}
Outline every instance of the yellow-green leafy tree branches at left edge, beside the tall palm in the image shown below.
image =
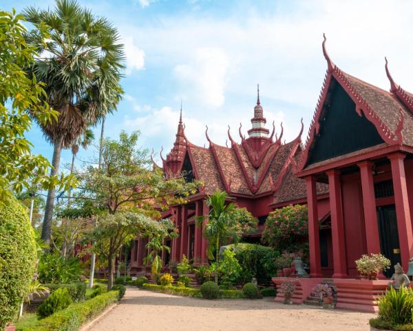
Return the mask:
{"type": "MultiPolygon", "coordinates": [[[[32,126],[28,110],[41,125],[51,123],[58,112],[45,102],[44,84],[27,74],[25,68],[34,63],[35,49],[25,41],[22,15],[0,11],[0,203],[10,191],[21,192],[33,185],[48,188],[58,183],[48,177],[50,163],[31,153],[32,144],[25,133],[32,126]]],[[[39,25],[39,41],[45,29],[39,25]]]]}

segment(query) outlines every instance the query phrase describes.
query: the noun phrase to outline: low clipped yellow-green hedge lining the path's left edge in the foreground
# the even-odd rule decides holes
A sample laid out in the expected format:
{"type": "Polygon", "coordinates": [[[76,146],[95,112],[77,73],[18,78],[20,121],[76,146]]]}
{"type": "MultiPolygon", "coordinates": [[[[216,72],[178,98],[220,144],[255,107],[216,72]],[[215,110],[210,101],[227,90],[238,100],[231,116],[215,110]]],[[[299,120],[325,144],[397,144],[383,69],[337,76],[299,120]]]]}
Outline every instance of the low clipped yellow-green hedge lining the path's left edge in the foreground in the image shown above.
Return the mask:
{"type": "Polygon", "coordinates": [[[22,331],[77,331],[85,321],[95,317],[111,303],[118,301],[118,295],[118,291],[110,291],[93,299],[74,303],[22,331]]]}

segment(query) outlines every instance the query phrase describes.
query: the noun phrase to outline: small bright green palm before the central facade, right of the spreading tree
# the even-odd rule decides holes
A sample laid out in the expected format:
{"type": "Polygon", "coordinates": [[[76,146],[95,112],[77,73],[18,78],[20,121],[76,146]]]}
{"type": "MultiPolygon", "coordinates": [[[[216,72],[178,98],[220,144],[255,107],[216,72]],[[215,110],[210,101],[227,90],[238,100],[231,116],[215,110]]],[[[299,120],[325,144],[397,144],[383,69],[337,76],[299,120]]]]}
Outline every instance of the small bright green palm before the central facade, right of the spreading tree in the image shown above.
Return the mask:
{"type": "MultiPolygon", "coordinates": [[[[215,258],[215,283],[218,284],[218,270],[220,268],[220,244],[229,239],[237,241],[237,232],[234,231],[234,213],[237,206],[234,203],[225,203],[226,192],[216,190],[207,199],[210,207],[208,222],[205,225],[204,237],[207,237],[209,245],[207,254],[209,259],[215,258]],[[215,252],[215,257],[214,253],[215,252]]],[[[198,226],[202,225],[203,217],[198,217],[198,226]]]]}

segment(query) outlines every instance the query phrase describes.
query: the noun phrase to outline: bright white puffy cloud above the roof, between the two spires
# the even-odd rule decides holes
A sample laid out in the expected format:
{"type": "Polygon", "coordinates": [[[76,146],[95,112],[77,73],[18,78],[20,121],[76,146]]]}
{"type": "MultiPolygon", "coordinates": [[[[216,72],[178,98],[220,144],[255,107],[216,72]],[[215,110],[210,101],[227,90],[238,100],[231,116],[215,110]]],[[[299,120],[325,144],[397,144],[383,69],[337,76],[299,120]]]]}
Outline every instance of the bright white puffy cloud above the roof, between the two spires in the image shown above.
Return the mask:
{"type": "Polygon", "coordinates": [[[219,48],[198,48],[189,64],[180,64],[174,73],[182,87],[205,104],[220,107],[224,104],[224,88],[229,71],[229,58],[219,48]],[[188,88],[192,86],[192,88],[188,88]]]}

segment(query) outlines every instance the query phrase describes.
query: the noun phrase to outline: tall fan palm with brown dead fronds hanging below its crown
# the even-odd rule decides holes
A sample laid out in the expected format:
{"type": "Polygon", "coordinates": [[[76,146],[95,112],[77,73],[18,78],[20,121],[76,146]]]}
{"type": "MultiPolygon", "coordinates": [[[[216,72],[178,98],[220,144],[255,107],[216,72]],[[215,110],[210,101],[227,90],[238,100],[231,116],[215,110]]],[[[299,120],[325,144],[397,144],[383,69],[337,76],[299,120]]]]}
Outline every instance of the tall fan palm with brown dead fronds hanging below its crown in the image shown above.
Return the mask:
{"type": "MultiPolygon", "coordinates": [[[[85,131],[114,111],[123,90],[120,78],[124,68],[123,45],[112,23],[95,17],[75,0],[56,0],[54,10],[25,8],[25,19],[38,30],[28,35],[39,57],[30,73],[45,83],[46,101],[59,111],[56,121],[39,123],[46,139],[53,144],[53,168],[56,176],[62,148],[70,148],[85,131]],[[46,41],[40,30],[49,28],[46,41]]],[[[47,193],[42,239],[50,242],[55,188],[47,193]]]]}

